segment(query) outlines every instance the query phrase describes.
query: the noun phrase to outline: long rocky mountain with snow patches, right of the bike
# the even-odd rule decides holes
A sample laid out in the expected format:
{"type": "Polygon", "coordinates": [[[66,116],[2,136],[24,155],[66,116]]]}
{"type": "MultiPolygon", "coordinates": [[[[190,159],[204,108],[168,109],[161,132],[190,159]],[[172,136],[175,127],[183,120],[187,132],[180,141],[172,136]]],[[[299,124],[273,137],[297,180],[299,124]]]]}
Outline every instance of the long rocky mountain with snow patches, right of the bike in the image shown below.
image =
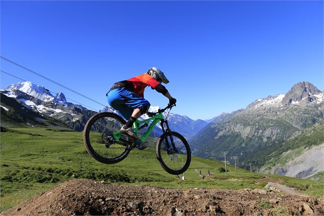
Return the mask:
{"type": "Polygon", "coordinates": [[[308,82],[297,83],[291,89],[286,94],[257,99],[224,119],[218,117],[217,121],[216,117],[191,139],[192,146],[198,148],[194,155],[208,158],[219,152],[216,158],[221,159],[220,152],[228,151],[239,156],[245,169],[250,169],[250,162],[255,169],[261,167],[264,161],[256,158],[255,152],[270,154],[272,148],[279,148],[287,139],[323,119],[323,91],[308,82]],[[299,91],[301,86],[303,90],[299,91]],[[301,95],[288,105],[283,103],[285,97],[296,96],[296,92],[301,95]]]}

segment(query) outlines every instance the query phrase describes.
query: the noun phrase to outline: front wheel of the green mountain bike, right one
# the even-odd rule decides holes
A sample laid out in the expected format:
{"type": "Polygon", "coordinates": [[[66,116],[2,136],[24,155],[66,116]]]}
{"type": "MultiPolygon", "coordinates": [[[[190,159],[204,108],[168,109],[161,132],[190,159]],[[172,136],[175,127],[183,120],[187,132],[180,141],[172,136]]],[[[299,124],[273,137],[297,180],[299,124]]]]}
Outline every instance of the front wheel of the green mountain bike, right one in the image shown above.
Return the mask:
{"type": "Polygon", "coordinates": [[[191,161],[191,151],[187,140],[177,132],[171,132],[173,145],[168,133],[164,133],[156,145],[156,155],[162,168],[171,175],[184,173],[191,161]]]}

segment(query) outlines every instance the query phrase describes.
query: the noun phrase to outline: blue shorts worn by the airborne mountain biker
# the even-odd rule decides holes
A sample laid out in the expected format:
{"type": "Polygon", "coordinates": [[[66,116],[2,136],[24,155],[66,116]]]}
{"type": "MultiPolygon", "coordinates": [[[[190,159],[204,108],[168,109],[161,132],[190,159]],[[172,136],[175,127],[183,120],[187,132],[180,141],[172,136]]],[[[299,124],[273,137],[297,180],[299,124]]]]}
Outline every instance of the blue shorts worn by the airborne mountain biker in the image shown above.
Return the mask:
{"type": "Polygon", "coordinates": [[[125,88],[109,91],[107,99],[108,104],[115,110],[118,110],[126,119],[132,116],[134,109],[151,106],[146,99],[141,98],[138,94],[125,88]]]}

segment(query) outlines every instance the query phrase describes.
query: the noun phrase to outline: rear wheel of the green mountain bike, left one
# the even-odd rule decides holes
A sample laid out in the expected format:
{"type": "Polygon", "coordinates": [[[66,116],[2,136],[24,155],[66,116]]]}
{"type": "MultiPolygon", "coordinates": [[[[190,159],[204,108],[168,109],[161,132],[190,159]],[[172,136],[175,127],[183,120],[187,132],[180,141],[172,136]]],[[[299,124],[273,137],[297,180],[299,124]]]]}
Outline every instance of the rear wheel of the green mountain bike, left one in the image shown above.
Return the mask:
{"type": "Polygon", "coordinates": [[[117,163],[126,158],[130,152],[127,142],[128,136],[122,135],[120,140],[112,136],[118,132],[126,121],[119,115],[110,112],[101,112],[93,115],[83,130],[83,142],[88,153],[102,163],[117,163]]]}

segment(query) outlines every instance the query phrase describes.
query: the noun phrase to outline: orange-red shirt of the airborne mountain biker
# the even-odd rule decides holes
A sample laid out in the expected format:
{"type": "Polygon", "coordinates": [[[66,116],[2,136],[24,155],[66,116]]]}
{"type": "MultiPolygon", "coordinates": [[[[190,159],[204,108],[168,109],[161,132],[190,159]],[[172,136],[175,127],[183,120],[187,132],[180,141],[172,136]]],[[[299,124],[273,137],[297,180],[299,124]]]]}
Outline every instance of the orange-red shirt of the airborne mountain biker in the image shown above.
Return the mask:
{"type": "Polygon", "coordinates": [[[127,81],[130,81],[134,84],[134,93],[137,93],[142,98],[144,98],[144,88],[146,88],[147,86],[151,86],[152,88],[155,88],[157,85],[160,84],[158,81],[156,81],[152,76],[148,74],[142,74],[137,77],[128,79],[127,81]]]}

